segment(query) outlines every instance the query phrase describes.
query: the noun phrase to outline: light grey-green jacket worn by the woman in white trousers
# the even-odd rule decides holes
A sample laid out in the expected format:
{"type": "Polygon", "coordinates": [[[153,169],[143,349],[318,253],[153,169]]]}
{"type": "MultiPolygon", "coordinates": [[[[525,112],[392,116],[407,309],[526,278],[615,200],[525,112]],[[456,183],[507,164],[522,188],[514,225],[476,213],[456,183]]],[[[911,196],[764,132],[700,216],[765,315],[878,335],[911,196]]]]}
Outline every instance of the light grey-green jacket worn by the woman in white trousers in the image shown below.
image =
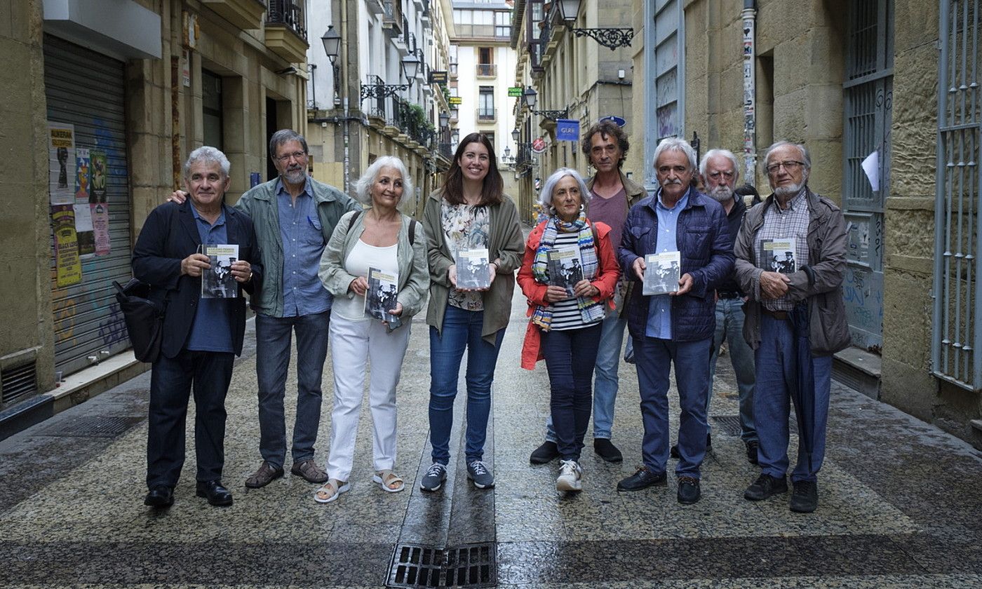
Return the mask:
{"type": "MultiPolygon", "coordinates": [[[[370,209],[369,209],[370,210],[370,209]]],[[[367,211],[366,211],[367,212],[367,211]]],[[[338,221],[331,240],[324,247],[324,253],[320,256],[320,282],[324,283],[324,288],[335,296],[354,296],[349,293],[348,287],[357,278],[345,270],[345,259],[355,247],[358,238],[364,233],[364,214],[358,215],[352,223],[352,216],[355,212],[345,213],[338,221]],[[351,226],[351,230],[349,230],[351,226]]],[[[409,223],[412,219],[406,215],[403,217],[403,227],[399,230],[399,241],[397,241],[396,259],[399,264],[399,294],[396,300],[403,303],[402,320],[399,324],[389,322],[392,329],[405,324],[409,319],[419,312],[423,306],[423,298],[429,288],[429,270],[426,268],[426,236],[422,235],[420,224],[416,224],[415,234],[412,243],[409,243],[409,223]]]]}

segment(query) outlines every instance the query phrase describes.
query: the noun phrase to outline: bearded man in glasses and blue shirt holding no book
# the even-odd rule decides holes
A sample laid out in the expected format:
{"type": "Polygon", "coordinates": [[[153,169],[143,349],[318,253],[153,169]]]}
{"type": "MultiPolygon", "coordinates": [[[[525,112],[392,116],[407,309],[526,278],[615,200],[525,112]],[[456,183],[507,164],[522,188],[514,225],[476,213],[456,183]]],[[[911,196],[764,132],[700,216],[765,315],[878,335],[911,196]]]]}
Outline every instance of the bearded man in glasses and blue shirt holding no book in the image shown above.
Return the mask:
{"type": "MultiPolygon", "coordinates": [[[[279,177],[250,188],[236,208],[252,218],[266,280],[251,299],[255,318],[259,396],[259,454],[262,464],[246,479],[258,489],[283,476],[286,461],[287,371],[291,338],[297,334],[297,418],[291,472],[311,483],[327,481],[314,461],[320,424],[321,377],[327,357],[331,294],[317,271],[324,245],[348,211],[361,206],[341,190],[307,175],[303,135],[282,129],[269,139],[269,156],[279,177]]],[[[183,200],[183,193],[171,198],[183,200]]]]}

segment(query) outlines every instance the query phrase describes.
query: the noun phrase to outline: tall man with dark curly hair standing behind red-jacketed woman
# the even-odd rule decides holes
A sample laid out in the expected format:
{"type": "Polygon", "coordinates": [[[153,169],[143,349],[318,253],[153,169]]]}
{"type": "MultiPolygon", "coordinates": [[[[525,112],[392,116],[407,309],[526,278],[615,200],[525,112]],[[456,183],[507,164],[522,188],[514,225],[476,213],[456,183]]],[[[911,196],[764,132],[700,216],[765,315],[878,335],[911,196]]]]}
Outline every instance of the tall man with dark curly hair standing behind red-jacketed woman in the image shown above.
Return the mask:
{"type": "MultiPolygon", "coordinates": [[[[624,129],[613,121],[593,124],[580,141],[580,149],[596,170],[596,174],[586,181],[589,190],[583,197],[586,216],[590,221],[604,223],[610,228],[610,241],[614,246],[615,256],[621,245],[621,229],[627,220],[627,210],[647,196],[644,187],[628,179],[622,169],[629,147],[624,129]]],[[[539,219],[536,225],[546,218],[548,216],[539,219]]],[[[619,386],[618,365],[627,326],[624,309],[629,287],[630,280],[622,275],[611,298],[613,304],[606,308],[593,381],[593,452],[608,462],[620,462],[624,459],[611,440],[614,431],[614,405],[619,386]]],[[[558,456],[556,432],[550,414],[546,419],[545,441],[532,452],[528,461],[532,464],[545,464],[558,456]]]]}

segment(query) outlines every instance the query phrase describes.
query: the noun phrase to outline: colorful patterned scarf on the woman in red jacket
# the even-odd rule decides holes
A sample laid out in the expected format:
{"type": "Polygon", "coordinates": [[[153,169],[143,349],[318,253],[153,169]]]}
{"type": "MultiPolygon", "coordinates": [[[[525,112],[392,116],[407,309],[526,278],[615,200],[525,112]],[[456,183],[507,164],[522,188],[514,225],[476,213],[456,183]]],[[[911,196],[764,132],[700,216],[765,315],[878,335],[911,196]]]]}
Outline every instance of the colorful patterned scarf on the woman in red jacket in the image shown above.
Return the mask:
{"type": "MultiPolygon", "coordinates": [[[[535,282],[549,284],[549,250],[556,244],[559,233],[578,233],[577,245],[579,257],[583,263],[583,278],[593,280],[597,275],[597,244],[593,236],[593,227],[586,221],[586,213],[579,212],[579,217],[572,222],[566,222],[553,215],[549,218],[535,250],[535,260],[532,262],[532,276],[535,282]]],[[[576,306],[584,324],[590,324],[604,318],[603,304],[586,296],[576,297],[576,306]]],[[[542,331],[549,331],[552,326],[553,308],[551,304],[537,305],[532,313],[532,323],[542,331]]]]}

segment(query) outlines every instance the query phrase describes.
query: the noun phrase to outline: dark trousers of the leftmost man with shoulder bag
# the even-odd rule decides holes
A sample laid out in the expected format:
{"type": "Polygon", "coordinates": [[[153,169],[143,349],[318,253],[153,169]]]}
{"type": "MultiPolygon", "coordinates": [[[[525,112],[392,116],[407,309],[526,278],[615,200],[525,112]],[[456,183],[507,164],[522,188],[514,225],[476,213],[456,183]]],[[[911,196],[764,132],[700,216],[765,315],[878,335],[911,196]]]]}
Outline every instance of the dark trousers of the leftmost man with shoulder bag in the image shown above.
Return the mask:
{"type": "Polygon", "coordinates": [[[185,419],[194,391],[194,451],[199,481],[222,478],[225,463],[225,396],[232,382],[231,351],[163,354],[150,372],[150,407],[146,436],[146,486],[174,487],[185,461],[185,419]]]}

